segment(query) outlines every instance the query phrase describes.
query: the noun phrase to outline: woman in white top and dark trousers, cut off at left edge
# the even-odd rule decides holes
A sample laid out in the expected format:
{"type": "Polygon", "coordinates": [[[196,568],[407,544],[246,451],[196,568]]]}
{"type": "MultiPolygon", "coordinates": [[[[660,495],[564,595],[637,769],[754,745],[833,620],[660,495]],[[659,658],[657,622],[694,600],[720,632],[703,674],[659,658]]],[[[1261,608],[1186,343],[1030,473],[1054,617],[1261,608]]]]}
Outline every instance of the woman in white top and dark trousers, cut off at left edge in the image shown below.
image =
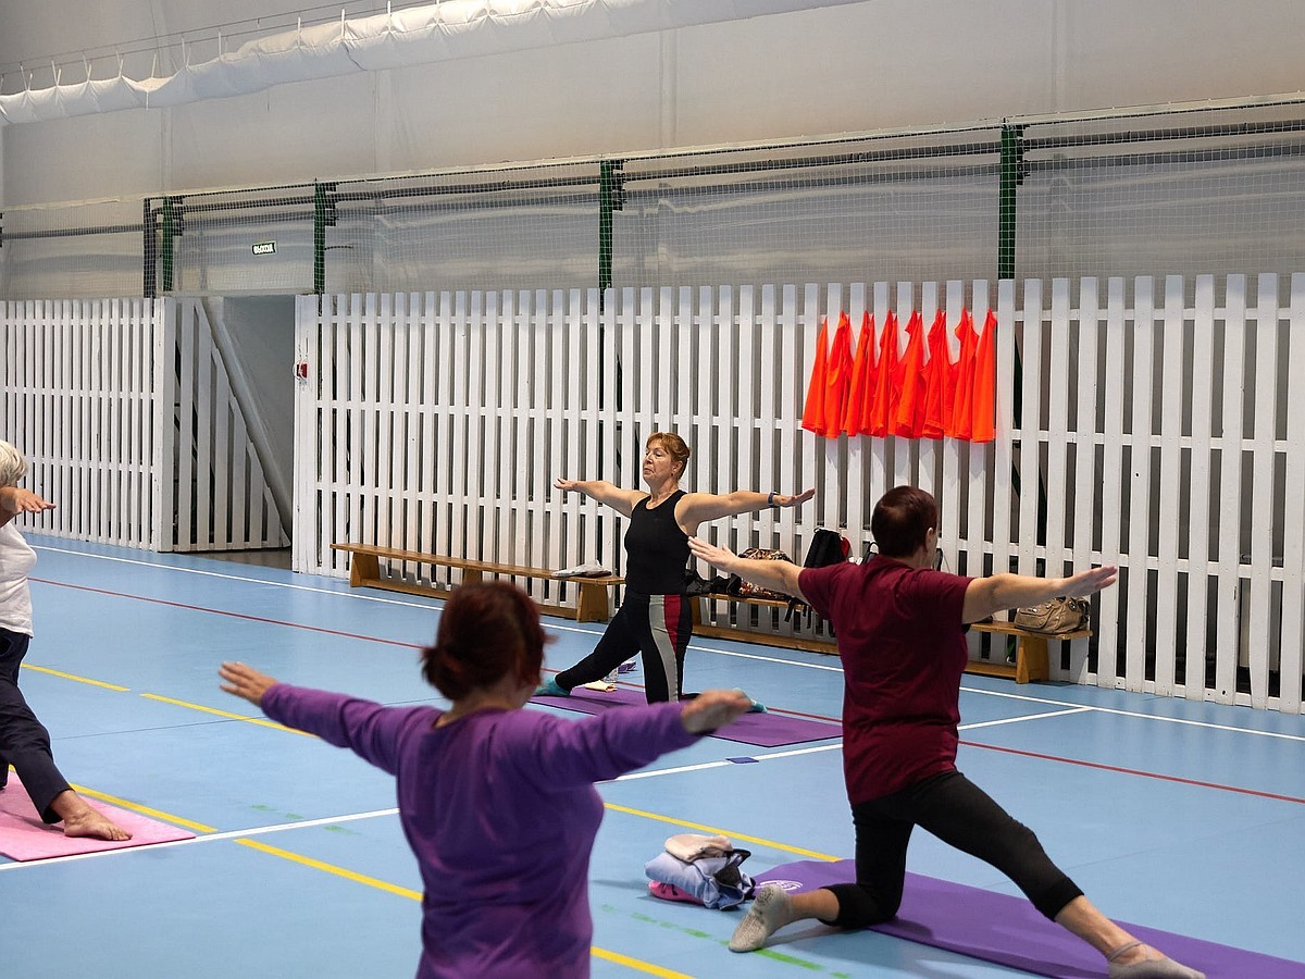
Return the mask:
{"type": "Polygon", "coordinates": [[[9,781],[13,765],[40,818],[63,822],[65,835],[129,839],[130,833],[89,805],[55,768],[50,732],[18,689],[18,668],[31,642],[27,576],[37,552],[13,526],[13,518],[55,505],[18,486],[26,471],[22,453],[0,441],[0,788],[9,781]]]}

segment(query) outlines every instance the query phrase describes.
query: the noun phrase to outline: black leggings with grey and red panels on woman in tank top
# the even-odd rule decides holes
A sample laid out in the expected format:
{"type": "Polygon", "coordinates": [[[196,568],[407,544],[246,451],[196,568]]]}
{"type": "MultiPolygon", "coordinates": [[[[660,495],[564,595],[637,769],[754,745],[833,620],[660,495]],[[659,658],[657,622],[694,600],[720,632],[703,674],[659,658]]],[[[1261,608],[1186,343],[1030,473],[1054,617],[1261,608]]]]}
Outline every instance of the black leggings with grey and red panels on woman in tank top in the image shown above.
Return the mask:
{"type": "Polygon", "coordinates": [[[693,607],[683,595],[625,593],[594,651],[557,674],[557,685],[574,689],[602,680],[636,653],[643,658],[649,704],[679,700],[684,689],[684,653],[693,637],[693,607]]]}

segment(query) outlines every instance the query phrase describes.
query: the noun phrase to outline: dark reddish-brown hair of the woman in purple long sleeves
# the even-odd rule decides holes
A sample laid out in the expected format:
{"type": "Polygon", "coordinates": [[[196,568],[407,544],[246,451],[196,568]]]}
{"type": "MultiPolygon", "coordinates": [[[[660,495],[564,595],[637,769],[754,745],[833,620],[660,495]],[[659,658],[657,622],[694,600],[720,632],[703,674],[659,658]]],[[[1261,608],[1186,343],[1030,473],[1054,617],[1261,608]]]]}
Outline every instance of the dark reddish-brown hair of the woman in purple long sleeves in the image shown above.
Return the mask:
{"type": "Polygon", "coordinates": [[[422,674],[449,700],[509,674],[523,684],[539,683],[549,638],[535,603],[515,585],[462,585],[444,606],[435,645],[422,650],[422,674]]]}

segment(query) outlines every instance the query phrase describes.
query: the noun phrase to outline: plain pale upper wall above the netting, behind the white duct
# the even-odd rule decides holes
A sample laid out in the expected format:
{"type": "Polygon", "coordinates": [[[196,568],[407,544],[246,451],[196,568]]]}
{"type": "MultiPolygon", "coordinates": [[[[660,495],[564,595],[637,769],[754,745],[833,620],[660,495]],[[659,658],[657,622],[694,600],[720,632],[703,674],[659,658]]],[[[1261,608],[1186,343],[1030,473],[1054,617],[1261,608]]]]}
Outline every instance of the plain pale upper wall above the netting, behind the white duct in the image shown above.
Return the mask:
{"type": "MultiPolygon", "coordinates": [[[[0,65],[291,9],[46,0],[20,14],[17,0],[3,0],[0,65]]],[[[1296,91],[1305,89],[1301,37],[1300,0],[868,0],[0,127],[0,200],[144,196],[1296,91]]],[[[103,77],[108,65],[94,70],[103,77]]]]}

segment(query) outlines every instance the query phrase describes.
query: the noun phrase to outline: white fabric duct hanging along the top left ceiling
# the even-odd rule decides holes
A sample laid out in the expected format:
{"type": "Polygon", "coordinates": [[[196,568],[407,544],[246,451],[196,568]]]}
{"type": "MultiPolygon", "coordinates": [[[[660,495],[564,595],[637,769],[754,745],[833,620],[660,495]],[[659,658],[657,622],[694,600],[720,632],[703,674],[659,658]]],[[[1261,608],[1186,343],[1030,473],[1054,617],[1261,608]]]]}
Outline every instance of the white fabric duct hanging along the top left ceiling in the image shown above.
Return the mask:
{"type": "Polygon", "coordinates": [[[274,85],[673,30],[861,0],[444,0],[260,38],[168,77],[0,95],[0,124],[163,108],[274,85]]]}

